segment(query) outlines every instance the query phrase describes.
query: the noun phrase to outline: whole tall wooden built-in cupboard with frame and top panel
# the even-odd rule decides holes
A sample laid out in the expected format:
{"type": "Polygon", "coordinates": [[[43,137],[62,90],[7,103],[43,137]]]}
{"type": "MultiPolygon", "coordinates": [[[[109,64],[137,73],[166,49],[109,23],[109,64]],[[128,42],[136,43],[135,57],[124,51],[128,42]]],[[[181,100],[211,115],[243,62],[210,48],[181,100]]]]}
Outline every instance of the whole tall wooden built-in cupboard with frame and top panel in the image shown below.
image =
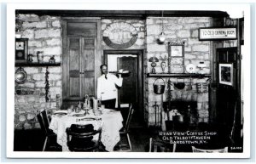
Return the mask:
{"type": "Polygon", "coordinates": [[[63,109],[77,105],[84,95],[96,96],[102,58],[99,20],[66,20],[63,24],[63,109]]]}

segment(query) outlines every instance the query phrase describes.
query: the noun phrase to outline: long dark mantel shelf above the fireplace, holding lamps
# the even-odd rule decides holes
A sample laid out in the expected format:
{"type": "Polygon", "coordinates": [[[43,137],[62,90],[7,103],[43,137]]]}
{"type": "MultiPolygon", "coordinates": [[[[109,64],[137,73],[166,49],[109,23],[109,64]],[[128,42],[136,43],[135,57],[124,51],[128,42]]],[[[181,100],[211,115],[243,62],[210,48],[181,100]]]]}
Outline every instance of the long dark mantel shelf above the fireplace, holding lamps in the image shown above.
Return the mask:
{"type": "Polygon", "coordinates": [[[211,77],[211,75],[208,74],[195,74],[195,73],[148,73],[148,77],[198,77],[198,78],[203,78],[203,77],[211,77]]]}

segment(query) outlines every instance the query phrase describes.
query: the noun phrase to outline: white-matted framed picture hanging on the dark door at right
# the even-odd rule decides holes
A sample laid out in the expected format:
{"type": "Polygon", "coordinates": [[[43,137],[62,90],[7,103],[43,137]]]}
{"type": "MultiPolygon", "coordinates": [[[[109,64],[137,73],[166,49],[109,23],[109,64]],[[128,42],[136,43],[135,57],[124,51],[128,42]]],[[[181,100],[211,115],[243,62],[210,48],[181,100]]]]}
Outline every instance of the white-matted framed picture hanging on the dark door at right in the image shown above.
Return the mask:
{"type": "Polygon", "coordinates": [[[232,64],[219,64],[219,83],[224,85],[233,86],[233,65],[232,64]]]}

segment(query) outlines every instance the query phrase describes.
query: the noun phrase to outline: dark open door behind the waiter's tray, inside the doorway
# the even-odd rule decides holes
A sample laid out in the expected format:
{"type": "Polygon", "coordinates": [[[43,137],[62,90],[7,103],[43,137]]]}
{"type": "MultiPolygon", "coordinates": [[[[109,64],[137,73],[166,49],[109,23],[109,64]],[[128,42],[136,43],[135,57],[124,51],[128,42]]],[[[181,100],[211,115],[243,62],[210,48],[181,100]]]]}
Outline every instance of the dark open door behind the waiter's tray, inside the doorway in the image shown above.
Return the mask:
{"type": "Polygon", "coordinates": [[[137,57],[118,58],[118,69],[131,71],[130,75],[123,76],[123,86],[119,88],[119,105],[132,104],[137,106],[138,85],[137,85],[137,57]]]}

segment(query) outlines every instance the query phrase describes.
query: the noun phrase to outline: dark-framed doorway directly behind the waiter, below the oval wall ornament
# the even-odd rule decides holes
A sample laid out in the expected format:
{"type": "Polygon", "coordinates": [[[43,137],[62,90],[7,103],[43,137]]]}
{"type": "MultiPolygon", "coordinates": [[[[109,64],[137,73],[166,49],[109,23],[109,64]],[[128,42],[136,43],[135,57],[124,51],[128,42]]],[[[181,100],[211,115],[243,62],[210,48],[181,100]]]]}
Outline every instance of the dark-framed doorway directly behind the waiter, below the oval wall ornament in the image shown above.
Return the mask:
{"type": "Polygon", "coordinates": [[[118,107],[120,110],[133,105],[135,110],[131,127],[143,125],[143,50],[105,50],[104,63],[108,71],[123,69],[129,74],[122,75],[123,85],[118,90],[118,107]]]}

